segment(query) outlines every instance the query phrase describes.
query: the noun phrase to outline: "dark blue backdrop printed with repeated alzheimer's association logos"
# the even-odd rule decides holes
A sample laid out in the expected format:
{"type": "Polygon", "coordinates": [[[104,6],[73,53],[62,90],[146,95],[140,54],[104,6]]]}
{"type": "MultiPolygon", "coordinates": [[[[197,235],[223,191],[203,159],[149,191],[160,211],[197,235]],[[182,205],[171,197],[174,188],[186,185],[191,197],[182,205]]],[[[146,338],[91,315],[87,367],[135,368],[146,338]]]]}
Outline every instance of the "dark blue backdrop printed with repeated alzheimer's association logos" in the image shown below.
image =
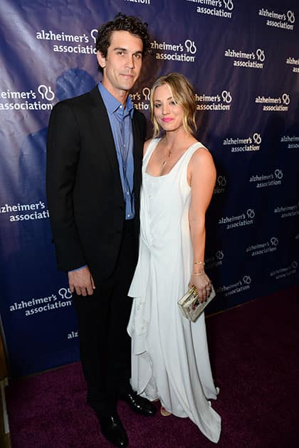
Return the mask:
{"type": "Polygon", "coordinates": [[[137,110],[149,118],[159,75],[194,84],[197,137],[217,168],[206,241],[217,299],[207,312],[298,282],[298,0],[1,0],[0,311],[14,377],[78,360],[51,242],[47,126],[56,102],[100,80],[96,30],[119,11],[151,33],[137,110]]]}

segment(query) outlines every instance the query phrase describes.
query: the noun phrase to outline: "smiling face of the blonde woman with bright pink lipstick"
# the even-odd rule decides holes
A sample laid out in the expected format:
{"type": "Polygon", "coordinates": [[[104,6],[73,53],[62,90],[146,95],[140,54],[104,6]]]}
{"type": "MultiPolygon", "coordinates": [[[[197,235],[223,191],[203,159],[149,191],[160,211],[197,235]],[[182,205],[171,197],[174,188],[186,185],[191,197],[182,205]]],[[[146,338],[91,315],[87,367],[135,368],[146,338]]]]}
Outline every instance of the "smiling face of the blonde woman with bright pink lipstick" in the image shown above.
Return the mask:
{"type": "Polygon", "coordinates": [[[173,97],[168,85],[154,90],[154,117],[164,131],[174,131],[183,126],[183,110],[173,97]]]}

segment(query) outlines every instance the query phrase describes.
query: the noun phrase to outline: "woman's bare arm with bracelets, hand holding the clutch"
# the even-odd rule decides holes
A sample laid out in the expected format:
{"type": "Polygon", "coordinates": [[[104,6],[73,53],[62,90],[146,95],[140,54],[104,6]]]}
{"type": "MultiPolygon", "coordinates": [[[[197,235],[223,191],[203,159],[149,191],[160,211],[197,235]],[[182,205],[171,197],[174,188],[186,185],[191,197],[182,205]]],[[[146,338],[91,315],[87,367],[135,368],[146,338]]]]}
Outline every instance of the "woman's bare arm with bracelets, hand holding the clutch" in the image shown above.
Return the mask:
{"type": "Polygon", "coordinates": [[[214,161],[206,149],[194,153],[188,167],[188,181],[191,186],[189,225],[193,247],[193,270],[190,284],[199,292],[203,302],[209,297],[211,281],[204,272],[204,249],[206,242],[206,209],[213,195],[216,169],[214,161]]]}

